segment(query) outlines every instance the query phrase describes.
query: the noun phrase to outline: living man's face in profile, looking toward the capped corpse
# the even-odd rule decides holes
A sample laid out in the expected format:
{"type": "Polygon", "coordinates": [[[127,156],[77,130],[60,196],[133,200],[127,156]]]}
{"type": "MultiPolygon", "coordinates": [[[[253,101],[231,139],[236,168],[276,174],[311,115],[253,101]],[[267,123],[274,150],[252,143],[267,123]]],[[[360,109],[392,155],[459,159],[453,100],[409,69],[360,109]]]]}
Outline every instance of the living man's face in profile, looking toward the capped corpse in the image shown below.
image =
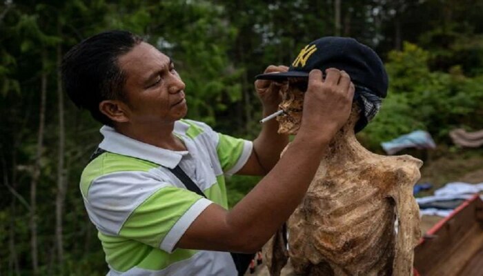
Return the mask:
{"type": "Polygon", "coordinates": [[[130,123],[172,123],[186,115],[185,85],[169,57],[141,42],[118,63],[126,74],[130,123]]]}

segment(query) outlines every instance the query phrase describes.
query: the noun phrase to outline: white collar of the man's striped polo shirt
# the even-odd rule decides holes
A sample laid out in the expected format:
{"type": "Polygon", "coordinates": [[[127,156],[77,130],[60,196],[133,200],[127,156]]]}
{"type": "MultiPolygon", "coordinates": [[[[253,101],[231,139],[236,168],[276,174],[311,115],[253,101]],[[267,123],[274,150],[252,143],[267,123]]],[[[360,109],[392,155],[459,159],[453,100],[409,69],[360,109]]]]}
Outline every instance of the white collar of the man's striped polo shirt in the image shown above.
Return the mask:
{"type": "MultiPolygon", "coordinates": [[[[184,132],[186,132],[187,129],[187,126],[185,125],[186,124],[181,121],[175,122],[175,132],[180,135],[184,135],[184,132]]],[[[100,132],[104,139],[102,140],[101,144],[99,144],[99,148],[107,150],[108,152],[117,153],[119,155],[127,155],[130,157],[151,161],[155,164],[168,168],[175,168],[179,164],[179,161],[181,161],[181,158],[188,154],[187,150],[166,150],[165,148],[159,148],[157,146],[152,146],[136,139],[132,139],[126,135],[122,135],[110,126],[103,126],[100,132]]]]}

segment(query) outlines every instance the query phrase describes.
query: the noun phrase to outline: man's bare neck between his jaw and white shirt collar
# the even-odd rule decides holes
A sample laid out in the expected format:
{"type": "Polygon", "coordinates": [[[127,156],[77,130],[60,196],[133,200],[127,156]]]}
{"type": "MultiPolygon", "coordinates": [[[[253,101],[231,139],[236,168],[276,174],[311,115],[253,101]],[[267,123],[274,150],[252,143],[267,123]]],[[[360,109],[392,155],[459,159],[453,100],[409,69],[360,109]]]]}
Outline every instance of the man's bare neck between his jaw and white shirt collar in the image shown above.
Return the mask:
{"type": "Polygon", "coordinates": [[[186,150],[186,146],[181,139],[176,137],[172,130],[175,124],[163,125],[132,125],[132,124],[118,124],[115,130],[122,135],[126,135],[137,141],[141,141],[158,148],[165,148],[166,150],[186,150]]]}

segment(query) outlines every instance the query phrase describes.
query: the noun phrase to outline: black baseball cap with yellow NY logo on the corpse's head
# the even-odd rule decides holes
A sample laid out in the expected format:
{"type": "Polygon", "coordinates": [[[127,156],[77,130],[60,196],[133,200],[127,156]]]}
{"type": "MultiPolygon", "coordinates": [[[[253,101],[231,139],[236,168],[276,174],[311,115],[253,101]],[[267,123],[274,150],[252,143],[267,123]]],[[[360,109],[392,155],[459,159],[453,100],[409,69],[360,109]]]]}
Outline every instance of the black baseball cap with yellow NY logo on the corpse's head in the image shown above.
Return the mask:
{"type": "Polygon", "coordinates": [[[322,37],[303,48],[288,72],[257,75],[255,79],[284,81],[288,77],[308,78],[308,72],[327,68],[344,70],[357,86],[386,97],[388,77],[384,64],[377,54],[362,43],[349,37],[322,37]]]}

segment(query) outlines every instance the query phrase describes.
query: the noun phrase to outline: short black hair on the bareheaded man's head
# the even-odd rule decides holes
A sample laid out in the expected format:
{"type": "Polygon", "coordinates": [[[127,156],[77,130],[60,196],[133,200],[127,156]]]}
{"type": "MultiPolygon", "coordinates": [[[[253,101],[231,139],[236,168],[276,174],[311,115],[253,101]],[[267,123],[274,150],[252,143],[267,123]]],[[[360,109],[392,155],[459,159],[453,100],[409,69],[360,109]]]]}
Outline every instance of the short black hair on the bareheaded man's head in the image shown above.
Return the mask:
{"type": "Polygon", "coordinates": [[[94,119],[112,126],[99,110],[106,99],[126,101],[126,75],[117,60],[144,41],[124,30],[101,32],[72,47],[62,60],[62,83],[67,95],[79,108],[90,111],[94,119]]]}

